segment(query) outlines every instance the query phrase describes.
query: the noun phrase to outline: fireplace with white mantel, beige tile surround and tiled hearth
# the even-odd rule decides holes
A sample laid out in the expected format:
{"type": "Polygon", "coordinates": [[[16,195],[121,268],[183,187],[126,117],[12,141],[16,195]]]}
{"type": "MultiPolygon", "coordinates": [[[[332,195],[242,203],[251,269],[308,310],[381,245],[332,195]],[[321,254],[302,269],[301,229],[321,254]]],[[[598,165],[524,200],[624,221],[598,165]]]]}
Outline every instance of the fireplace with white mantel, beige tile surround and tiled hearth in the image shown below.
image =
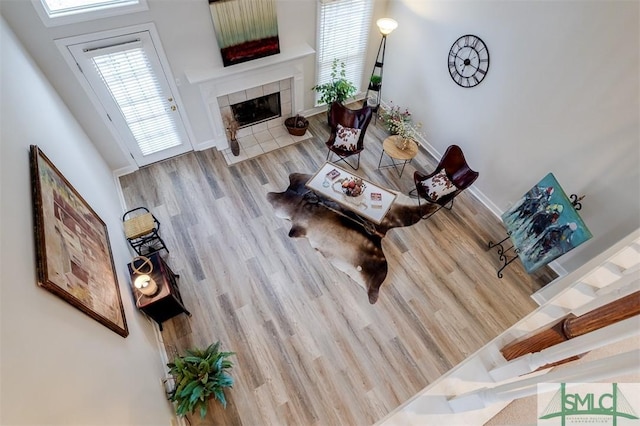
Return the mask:
{"type": "MultiPolygon", "coordinates": [[[[210,146],[222,151],[228,164],[252,158],[310,137],[292,136],[284,120],[303,109],[304,74],[302,60],[314,53],[309,46],[283,49],[279,55],[246,62],[210,73],[187,72],[191,83],[200,83],[200,93],[207,106],[215,138],[210,146]],[[280,116],[258,118],[256,123],[241,126],[236,134],[240,155],[229,149],[224,117],[232,116],[232,105],[266,95],[279,94],[280,116]]],[[[273,100],[256,101],[269,102],[273,100]]],[[[273,105],[271,105],[273,106],[273,105]]],[[[272,114],[273,115],[273,114],[272,114]]]]}

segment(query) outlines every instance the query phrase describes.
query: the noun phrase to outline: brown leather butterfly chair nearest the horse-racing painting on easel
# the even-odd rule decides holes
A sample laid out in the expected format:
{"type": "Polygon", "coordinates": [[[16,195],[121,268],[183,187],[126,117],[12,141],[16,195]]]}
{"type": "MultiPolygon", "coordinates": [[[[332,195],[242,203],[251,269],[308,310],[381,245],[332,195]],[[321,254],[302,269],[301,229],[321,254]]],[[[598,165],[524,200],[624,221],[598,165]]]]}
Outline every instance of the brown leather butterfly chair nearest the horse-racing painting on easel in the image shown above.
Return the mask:
{"type": "MultiPolygon", "coordinates": [[[[458,145],[451,145],[432,173],[414,172],[415,188],[409,192],[409,195],[417,196],[418,204],[420,204],[420,199],[425,199],[429,203],[438,204],[440,208],[445,207],[447,210],[451,210],[455,197],[470,187],[478,175],[479,173],[471,170],[467,164],[462,149],[458,145]]],[[[431,214],[425,216],[424,219],[431,214]]]]}

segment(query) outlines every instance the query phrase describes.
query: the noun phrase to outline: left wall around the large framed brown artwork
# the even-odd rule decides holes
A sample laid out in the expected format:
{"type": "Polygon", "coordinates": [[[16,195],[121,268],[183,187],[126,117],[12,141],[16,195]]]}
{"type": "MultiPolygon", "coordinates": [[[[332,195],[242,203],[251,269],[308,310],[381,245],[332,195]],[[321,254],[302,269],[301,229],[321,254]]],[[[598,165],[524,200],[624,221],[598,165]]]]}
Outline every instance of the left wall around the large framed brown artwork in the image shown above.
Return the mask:
{"type": "Polygon", "coordinates": [[[135,311],[109,168],[0,19],[0,424],[168,425],[165,366],[135,311]],[[122,338],[36,284],[29,145],[107,224],[129,326],[122,338]]]}

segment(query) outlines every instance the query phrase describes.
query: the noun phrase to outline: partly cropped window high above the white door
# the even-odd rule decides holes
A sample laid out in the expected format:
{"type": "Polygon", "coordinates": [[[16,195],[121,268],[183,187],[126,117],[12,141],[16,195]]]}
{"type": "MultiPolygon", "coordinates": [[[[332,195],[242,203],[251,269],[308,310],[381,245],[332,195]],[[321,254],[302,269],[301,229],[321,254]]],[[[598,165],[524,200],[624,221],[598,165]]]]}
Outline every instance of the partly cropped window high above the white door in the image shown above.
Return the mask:
{"type": "Polygon", "coordinates": [[[73,24],[147,10],[147,0],[31,0],[45,26],[73,24]]]}

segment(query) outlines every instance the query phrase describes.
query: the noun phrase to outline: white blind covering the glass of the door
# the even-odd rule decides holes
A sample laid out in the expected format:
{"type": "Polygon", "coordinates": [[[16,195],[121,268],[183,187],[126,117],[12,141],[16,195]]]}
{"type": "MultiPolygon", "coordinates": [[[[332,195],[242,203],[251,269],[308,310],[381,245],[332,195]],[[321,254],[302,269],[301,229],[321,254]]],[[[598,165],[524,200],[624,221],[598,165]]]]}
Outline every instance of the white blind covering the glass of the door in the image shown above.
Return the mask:
{"type": "Polygon", "coordinates": [[[144,49],[132,46],[109,50],[112,49],[97,50],[92,62],[120,108],[142,155],[180,145],[171,110],[175,107],[167,102],[171,100],[164,99],[144,49]]]}

